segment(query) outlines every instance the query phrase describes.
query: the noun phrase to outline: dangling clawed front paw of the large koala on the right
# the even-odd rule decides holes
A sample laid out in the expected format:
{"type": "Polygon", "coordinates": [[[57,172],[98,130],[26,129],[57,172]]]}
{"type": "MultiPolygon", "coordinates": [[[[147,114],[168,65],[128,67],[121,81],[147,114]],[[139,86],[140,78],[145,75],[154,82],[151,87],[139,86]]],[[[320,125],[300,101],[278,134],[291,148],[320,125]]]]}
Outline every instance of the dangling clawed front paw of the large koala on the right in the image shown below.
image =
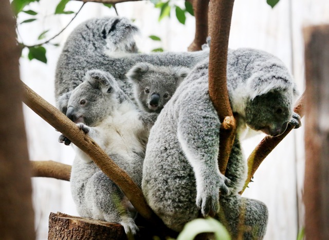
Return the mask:
{"type": "Polygon", "coordinates": [[[229,194],[229,189],[226,186],[230,180],[224,175],[220,175],[216,181],[216,184],[206,184],[207,188],[202,188],[196,194],[196,205],[201,209],[201,213],[204,217],[214,216],[220,210],[219,194],[229,194]]]}

